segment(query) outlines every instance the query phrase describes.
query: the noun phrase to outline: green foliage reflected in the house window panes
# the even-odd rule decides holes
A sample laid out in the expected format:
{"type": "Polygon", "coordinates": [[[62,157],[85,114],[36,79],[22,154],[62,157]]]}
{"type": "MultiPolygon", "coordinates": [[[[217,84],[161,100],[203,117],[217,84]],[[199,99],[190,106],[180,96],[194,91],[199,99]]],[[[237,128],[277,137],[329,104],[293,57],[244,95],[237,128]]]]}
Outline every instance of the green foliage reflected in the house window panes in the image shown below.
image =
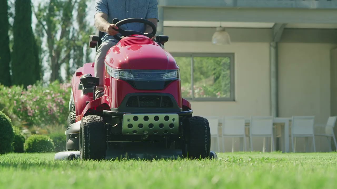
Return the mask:
{"type": "Polygon", "coordinates": [[[183,98],[230,97],[229,57],[175,57],[180,69],[183,98]],[[193,59],[193,90],[191,61],[193,59]]]}

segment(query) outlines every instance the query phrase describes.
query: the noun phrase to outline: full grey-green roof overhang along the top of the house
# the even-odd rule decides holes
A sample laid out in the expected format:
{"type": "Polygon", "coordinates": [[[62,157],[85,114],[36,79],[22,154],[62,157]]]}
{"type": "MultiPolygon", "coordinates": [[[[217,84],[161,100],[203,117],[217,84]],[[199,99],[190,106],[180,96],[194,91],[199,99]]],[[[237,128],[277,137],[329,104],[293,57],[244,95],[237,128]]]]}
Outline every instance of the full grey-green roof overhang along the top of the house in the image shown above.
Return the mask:
{"type": "Polygon", "coordinates": [[[337,24],[337,1],[158,0],[164,21],[337,24]]]}

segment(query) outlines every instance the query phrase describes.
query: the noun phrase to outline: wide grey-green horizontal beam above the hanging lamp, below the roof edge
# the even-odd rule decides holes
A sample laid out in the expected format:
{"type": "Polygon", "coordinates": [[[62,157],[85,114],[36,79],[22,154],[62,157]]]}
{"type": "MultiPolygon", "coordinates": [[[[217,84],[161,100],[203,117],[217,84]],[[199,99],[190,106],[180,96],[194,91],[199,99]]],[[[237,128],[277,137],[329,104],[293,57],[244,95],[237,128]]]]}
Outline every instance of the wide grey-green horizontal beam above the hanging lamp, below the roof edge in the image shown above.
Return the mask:
{"type": "Polygon", "coordinates": [[[335,9],[164,7],[165,21],[337,24],[335,9]]]}

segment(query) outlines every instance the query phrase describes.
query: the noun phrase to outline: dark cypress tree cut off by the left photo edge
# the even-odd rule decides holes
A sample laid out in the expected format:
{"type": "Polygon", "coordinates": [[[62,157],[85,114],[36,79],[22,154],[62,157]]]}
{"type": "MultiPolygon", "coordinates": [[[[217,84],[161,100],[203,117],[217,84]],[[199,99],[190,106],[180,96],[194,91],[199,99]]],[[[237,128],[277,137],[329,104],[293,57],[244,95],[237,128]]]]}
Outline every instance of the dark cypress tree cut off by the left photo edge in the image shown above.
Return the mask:
{"type": "Polygon", "coordinates": [[[8,4],[7,0],[0,1],[0,84],[10,86],[10,49],[8,36],[8,4]]]}

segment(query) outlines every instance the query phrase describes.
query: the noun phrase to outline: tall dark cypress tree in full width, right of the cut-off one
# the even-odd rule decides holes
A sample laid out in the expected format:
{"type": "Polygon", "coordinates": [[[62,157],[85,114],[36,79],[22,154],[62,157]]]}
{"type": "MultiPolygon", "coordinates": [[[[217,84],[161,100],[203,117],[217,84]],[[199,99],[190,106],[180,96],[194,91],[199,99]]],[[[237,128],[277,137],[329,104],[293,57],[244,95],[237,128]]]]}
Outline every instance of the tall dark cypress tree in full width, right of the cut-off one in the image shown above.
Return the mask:
{"type": "Polygon", "coordinates": [[[31,0],[15,1],[12,84],[34,84],[40,78],[37,43],[32,30],[31,0]]]}

